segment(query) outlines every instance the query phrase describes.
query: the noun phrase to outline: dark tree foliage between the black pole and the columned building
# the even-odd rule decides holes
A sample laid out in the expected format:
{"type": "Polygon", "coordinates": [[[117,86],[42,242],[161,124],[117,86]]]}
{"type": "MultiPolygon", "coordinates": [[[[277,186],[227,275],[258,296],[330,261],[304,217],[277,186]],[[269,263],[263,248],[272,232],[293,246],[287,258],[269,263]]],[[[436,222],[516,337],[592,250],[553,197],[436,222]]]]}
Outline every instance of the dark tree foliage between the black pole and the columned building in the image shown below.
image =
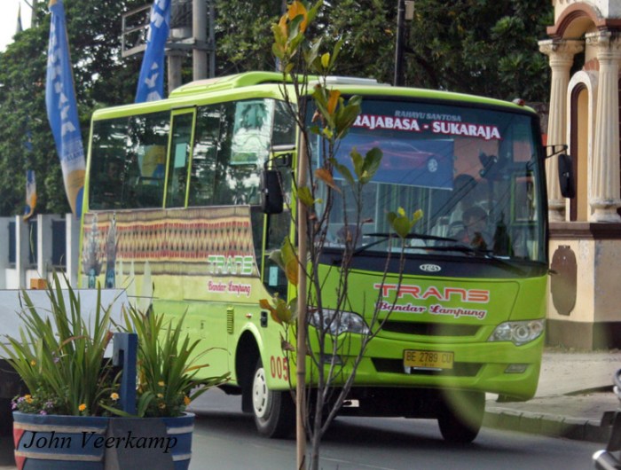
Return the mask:
{"type": "Polygon", "coordinates": [[[405,82],[547,101],[549,67],[537,41],[546,38],[553,12],[538,0],[417,0],[405,82]]]}

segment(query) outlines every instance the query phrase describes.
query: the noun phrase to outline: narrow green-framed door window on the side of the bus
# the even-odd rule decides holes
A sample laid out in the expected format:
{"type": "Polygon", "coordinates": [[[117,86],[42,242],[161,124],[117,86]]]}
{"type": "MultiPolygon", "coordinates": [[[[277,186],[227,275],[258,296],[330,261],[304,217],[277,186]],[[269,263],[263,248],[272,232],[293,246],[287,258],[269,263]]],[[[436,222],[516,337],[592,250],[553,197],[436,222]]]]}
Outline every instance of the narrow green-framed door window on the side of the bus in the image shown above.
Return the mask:
{"type": "Polygon", "coordinates": [[[187,202],[195,120],[194,107],[174,110],[170,118],[166,208],[185,208],[187,202]]]}

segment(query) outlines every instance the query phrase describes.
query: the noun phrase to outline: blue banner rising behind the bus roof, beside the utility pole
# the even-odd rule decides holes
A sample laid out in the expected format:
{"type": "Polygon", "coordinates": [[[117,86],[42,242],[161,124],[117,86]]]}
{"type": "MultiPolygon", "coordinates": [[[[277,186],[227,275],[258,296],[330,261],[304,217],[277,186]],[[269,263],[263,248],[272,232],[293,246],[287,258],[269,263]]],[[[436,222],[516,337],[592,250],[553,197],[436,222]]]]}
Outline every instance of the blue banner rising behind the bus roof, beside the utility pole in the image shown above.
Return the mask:
{"type": "Polygon", "coordinates": [[[169,39],[170,3],[170,0],[155,0],[151,8],[145,57],[136,90],[137,103],[164,97],[164,47],[169,39]]]}

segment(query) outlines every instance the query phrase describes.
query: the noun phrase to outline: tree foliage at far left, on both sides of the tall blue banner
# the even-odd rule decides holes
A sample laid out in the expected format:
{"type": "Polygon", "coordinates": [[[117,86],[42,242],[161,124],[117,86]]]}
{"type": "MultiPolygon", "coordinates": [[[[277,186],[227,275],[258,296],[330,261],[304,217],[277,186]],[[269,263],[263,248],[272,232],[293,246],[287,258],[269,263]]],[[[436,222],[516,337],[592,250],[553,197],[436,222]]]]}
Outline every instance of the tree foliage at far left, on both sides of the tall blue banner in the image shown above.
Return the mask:
{"type": "MultiPolygon", "coordinates": [[[[142,6],[145,0],[66,0],[64,4],[86,143],[94,109],[133,101],[140,62],[121,59],[121,13],[142,6]]],[[[38,212],[70,210],[45,110],[50,35],[46,2],[39,3],[36,17],[37,27],[16,35],[14,43],[0,52],[0,215],[23,211],[27,169],[35,170],[38,212]]]]}

